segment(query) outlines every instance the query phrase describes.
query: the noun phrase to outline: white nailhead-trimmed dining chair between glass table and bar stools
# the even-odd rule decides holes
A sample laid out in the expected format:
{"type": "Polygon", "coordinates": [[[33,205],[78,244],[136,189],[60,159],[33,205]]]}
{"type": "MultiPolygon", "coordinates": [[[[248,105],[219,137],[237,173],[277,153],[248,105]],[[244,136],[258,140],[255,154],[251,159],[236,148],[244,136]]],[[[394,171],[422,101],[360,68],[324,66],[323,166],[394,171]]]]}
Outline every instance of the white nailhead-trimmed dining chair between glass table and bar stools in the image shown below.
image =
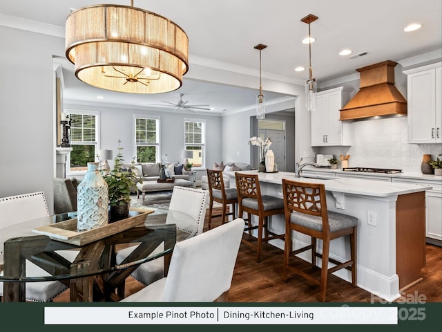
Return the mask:
{"type": "MultiPolygon", "coordinates": [[[[175,223],[177,229],[189,234],[189,237],[201,234],[204,228],[206,210],[209,206],[209,194],[206,190],[190,187],[173,187],[171,203],[166,216],[166,223],[175,223]]],[[[162,252],[163,244],[153,250],[151,255],[162,252]]],[[[117,252],[117,264],[135,250],[136,246],[124,248],[117,252]]],[[[151,284],[164,277],[164,257],[159,257],[141,264],[131,276],[144,285],[151,284]]]]}

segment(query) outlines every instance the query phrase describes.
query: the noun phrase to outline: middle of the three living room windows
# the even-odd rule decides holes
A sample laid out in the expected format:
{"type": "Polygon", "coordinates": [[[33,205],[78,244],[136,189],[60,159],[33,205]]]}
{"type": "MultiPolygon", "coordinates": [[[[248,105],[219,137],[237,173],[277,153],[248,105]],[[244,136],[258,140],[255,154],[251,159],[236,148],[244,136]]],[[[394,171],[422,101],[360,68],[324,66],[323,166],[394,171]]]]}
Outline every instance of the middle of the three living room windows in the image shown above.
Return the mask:
{"type": "Polygon", "coordinates": [[[138,163],[160,160],[160,118],[135,116],[135,149],[138,163]]]}

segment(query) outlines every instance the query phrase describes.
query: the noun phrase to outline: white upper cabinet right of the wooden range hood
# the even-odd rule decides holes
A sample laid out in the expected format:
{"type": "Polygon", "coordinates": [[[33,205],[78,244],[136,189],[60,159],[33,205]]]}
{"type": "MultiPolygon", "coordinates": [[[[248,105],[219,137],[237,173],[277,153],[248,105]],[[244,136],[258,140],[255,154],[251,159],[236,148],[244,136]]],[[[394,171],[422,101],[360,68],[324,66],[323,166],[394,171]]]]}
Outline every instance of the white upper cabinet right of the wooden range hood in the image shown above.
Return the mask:
{"type": "Polygon", "coordinates": [[[442,142],[441,62],[403,73],[407,75],[408,142],[442,142]]]}

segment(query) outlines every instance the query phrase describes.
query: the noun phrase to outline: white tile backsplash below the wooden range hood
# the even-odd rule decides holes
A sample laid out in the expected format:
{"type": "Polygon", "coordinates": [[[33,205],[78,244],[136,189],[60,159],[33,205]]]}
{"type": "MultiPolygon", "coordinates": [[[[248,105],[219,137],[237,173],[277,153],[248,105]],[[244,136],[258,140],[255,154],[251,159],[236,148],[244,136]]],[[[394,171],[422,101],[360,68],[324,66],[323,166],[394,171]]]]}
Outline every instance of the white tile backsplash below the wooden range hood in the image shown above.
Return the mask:
{"type": "MultiPolygon", "coordinates": [[[[442,144],[409,144],[407,117],[352,122],[351,147],[315,148],[316,154],[349,154],[348,167],[402,169],[421,173],[423,154],[436,158],[442,144]]],[[[340,168],[340,163],[338,163],[340,168]]]]}

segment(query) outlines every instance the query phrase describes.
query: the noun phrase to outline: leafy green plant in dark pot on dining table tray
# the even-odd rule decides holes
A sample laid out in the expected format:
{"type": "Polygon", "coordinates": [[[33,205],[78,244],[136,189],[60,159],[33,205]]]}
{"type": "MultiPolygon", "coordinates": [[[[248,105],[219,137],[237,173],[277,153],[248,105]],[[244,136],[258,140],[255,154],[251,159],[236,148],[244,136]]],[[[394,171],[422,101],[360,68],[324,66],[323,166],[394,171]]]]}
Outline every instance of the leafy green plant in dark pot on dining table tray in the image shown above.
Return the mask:
{"type": "Polygon", "coordinates": [[[132,160],[131,169],[125,169],[123,165],[123,155],[121,140],[118,140],[118,154],[114,159],[114,166],[111,172],[104,176],[104,180],[108,184],[109,205],[126,205],[131,203],[131,187],[135,185],[137,176],[132,172],[135,161],[132,160]]]}

